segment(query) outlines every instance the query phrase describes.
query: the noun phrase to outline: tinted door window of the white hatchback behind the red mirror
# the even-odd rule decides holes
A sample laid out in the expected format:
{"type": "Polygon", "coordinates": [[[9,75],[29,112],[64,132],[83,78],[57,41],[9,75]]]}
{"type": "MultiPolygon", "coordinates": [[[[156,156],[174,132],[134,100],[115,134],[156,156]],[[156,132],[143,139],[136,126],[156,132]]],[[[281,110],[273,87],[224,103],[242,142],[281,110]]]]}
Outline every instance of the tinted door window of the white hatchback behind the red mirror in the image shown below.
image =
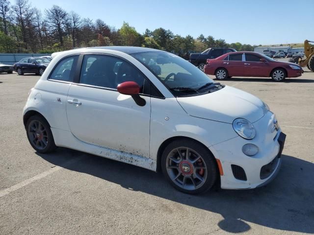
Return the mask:
{"type": "Polygon", "coordinates": [[[144,89],[144,75],[130,63],[108,55],[84,55],[79,82],[117,89],[118,84],[134,81],[144,89]]]}

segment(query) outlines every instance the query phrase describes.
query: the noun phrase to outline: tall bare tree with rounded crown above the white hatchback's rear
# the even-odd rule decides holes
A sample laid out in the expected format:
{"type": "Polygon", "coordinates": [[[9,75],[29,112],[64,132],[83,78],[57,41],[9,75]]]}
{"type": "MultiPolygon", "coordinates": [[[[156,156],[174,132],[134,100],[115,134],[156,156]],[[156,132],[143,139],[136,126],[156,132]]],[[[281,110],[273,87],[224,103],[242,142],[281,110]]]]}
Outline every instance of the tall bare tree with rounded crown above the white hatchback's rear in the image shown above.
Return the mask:
{"type": "Polygon", "coordinates": [[[47,24],[53,34],[59,39],[60,46],[63,46],[63,35],[67,27],[69,18],[68,13],[57,5],[45,10],[47,24]]]}

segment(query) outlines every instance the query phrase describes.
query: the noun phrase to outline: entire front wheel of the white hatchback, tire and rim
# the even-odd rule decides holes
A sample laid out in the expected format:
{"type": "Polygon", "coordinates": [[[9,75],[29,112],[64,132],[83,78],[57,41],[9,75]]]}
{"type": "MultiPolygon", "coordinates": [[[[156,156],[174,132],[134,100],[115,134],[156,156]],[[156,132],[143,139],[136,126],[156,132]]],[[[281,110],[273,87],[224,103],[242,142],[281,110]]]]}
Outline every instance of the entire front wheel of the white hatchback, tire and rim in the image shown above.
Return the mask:
{"type": "Polygon", "coordinates": [[[199,142],[184,139],[173,141],[164,149],[161,169],[174,188],[191,194],[209,190],[218,173],[209,149],[199,142]]]}

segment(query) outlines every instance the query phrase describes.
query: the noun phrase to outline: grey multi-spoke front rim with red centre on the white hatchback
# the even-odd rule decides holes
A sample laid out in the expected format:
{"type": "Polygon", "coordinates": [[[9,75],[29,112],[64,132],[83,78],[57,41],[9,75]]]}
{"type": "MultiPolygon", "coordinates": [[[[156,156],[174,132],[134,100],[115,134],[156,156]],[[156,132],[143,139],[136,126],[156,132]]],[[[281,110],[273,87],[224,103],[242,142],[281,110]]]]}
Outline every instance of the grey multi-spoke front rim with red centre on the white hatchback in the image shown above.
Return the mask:
{"type": "Polygon", "coordinates": [[[170,179],[186,190],[201,188],[208,176],[202,156],[188,147],[178,147],[169,152],[166,170],[170,179]]]}

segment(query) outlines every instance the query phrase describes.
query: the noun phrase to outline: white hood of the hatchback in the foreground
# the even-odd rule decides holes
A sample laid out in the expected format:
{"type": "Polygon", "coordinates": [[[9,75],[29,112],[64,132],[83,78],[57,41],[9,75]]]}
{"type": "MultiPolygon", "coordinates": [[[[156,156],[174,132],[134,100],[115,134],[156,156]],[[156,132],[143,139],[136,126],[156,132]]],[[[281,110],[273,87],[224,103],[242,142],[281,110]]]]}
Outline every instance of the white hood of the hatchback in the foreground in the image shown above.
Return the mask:
{"type": "Polygon", "coordinates": [[[177,100],[190,116],[227,123],[232,123],[235,118],[245,118],[253,123],[267,112],[258,97],[228,86],[209,94],[177,97],[177,100]]]}

